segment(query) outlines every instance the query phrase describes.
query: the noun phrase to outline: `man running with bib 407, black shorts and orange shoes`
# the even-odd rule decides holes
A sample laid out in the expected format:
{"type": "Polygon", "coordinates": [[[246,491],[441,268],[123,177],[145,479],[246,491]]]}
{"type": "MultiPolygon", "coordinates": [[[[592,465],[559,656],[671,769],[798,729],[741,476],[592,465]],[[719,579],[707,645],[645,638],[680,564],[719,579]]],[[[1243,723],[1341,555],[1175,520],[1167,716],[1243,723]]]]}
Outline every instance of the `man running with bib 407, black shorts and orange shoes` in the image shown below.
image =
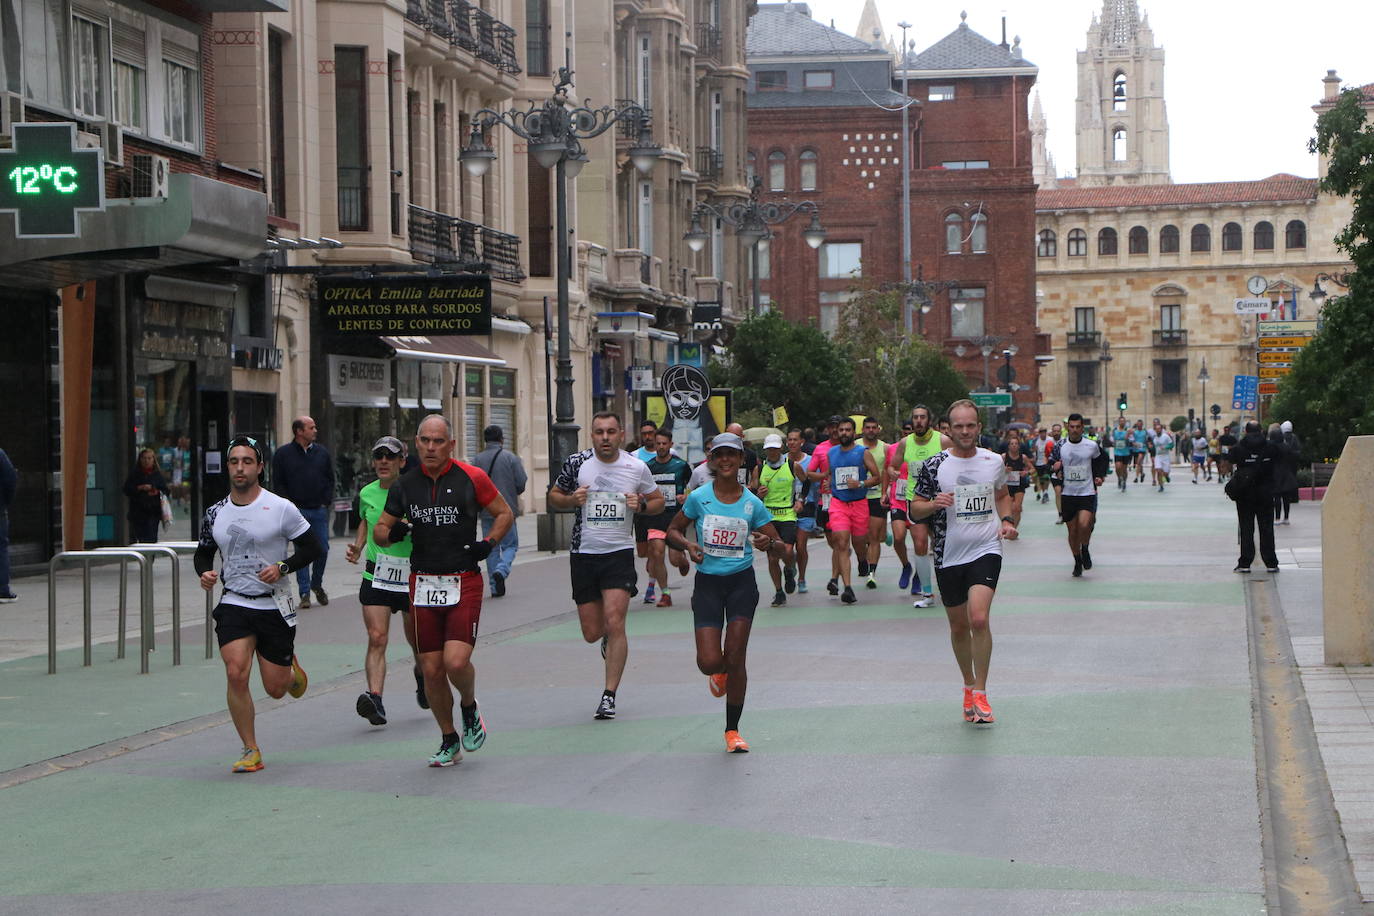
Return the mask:
{"type": "Polygon", "coordinates": [[[969,400],[955,401],[949,424],[954,446],[921,466],[907,511],[912,518],[932,519],[940,600],[963,674],[963,720],[991,724],[989,615],[1002,575],[1002,540],[1014,540],[1017,527],[1002,456],[977,446],[978,408],[969,400]]]}

